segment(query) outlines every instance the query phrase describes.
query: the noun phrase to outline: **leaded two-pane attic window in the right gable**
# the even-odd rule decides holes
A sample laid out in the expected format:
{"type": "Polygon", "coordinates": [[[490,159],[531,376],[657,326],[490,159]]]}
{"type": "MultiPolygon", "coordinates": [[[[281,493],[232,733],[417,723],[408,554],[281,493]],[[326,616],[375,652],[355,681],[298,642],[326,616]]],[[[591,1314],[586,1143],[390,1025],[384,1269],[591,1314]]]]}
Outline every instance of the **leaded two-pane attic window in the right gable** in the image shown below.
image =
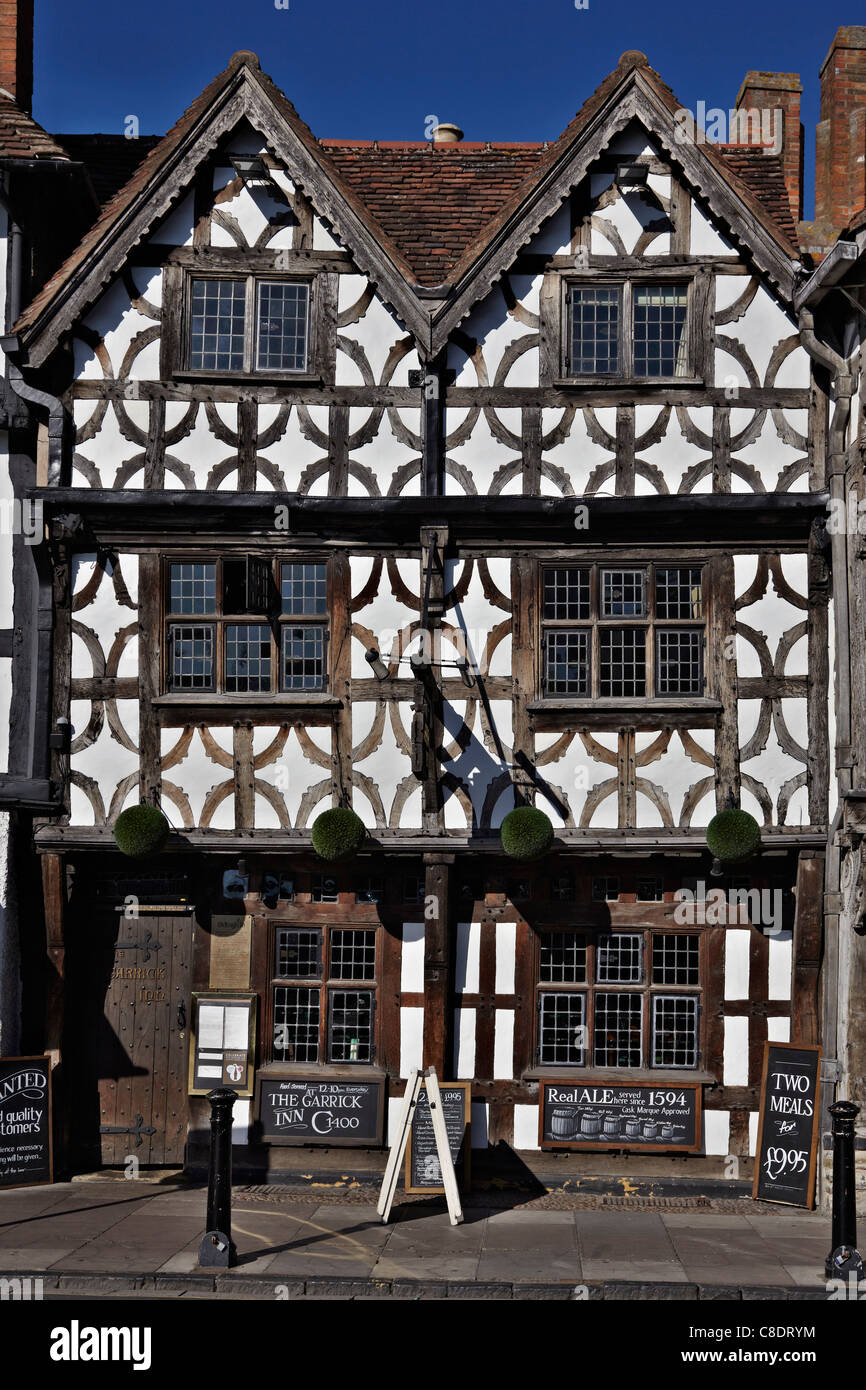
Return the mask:
{"type": "Polygon", "coordinates": [[[631,279],[570,282],[564,359],[569,379],[691,378],[689,285],[631,279]]]}

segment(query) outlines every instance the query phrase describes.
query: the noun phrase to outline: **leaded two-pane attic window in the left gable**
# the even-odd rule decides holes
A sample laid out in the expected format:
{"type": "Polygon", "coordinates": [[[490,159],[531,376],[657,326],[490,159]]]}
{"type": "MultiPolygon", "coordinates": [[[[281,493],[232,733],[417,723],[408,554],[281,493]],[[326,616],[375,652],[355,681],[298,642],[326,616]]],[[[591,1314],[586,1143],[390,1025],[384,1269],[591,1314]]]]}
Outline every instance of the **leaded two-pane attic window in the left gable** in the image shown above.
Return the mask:
{"type": "Polygon", "coordinates": [[[307,282],[254,275],[190,279],[190,371],[302,373],[309,341],[307,282]]]}

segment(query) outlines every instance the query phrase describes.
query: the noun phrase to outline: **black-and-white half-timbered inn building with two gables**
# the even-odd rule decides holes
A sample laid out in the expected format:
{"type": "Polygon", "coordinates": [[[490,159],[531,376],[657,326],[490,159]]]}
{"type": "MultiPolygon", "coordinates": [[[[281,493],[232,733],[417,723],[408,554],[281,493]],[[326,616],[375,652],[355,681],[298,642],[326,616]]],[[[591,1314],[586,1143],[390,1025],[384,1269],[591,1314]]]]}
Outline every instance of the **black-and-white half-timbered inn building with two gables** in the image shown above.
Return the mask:
{"type": "MultiPolygon", "coordinates": [[[[744,110],[788,111],[758,86],[744,110]]],[[[74,1163],[200,1163],[207,992],[254,1001],[259,1077],[391,1104],[434,1065],[473,1144],[527,1161],[544,1079],[694,1084],[687,1163],[728,1177],[765,1041],[819,1041],[830,384],[798,160],[699,139],[634,51],[549,145],[459,136],[318,140],[236,54],[7,345],[42,393],[74,1163]],[[142,801],[172,833],[135,862],[142,801]],[[530,863],[499,840],[521,805],[556,835],[530,863]],[[367,828],[339,862],[332,806],[367,828]],[[733,806],[762,851],[713,877],[733,806]]],[[[256,1094],[235,1138],[288,1162],[256,1094]]]]}

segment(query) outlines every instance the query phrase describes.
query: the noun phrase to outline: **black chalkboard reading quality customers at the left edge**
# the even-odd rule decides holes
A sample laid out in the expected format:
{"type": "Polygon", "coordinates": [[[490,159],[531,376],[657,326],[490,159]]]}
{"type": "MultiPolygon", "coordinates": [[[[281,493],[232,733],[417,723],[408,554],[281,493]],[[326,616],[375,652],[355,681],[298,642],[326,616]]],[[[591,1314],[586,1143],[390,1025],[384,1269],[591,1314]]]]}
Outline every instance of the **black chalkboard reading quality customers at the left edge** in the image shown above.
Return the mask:
{"type": "Polygon", "coordinates": [[[0,1058],[0,1187],[50,1182],[51,1059],[0,1058]]]}

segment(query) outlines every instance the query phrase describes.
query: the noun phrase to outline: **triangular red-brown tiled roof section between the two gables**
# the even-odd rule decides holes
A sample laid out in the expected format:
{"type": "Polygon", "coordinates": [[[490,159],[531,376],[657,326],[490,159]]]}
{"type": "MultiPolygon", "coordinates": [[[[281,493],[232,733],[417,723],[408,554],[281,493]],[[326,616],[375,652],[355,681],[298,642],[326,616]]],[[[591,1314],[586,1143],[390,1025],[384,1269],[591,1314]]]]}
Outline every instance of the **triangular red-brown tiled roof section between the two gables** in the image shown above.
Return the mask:
{"type": "Polygon", "coordinates": [[[534,174],[544,145],[322,140],[421,285],[441,285],[534,174]]]}

